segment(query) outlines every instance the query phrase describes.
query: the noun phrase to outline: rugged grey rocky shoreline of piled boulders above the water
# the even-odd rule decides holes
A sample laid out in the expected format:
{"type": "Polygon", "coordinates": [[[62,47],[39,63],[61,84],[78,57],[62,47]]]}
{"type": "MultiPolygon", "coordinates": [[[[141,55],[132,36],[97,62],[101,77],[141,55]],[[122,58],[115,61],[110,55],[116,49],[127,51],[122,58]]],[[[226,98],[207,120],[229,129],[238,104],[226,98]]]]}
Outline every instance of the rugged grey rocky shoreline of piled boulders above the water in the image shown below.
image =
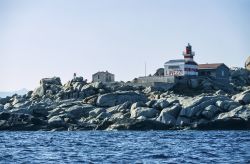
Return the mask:
{"type": "Polygon", "coordinates": [[[82,77],[62,85],[58,77],[45,78],[23,96],[0,98],[0,130],[250,129],[249,72],[231,75],[226,89],[202,81],[182,92],[178,85],[162,90],[82,77]]]}

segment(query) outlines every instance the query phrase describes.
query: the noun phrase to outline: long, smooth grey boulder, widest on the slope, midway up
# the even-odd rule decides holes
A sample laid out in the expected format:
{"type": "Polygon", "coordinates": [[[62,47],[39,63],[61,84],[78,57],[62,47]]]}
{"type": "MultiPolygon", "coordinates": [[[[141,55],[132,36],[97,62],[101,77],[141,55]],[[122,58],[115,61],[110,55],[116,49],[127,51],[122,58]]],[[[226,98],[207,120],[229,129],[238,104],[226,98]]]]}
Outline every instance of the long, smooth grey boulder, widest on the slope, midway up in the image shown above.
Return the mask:
{"type": "Polygon", "coordinates": [[[137,92],[121,91],[98,96],[96,104],[101,107],[111,107],[124,102],[135,103],[139,101],[146,102],[147,97],[137,92]]]}

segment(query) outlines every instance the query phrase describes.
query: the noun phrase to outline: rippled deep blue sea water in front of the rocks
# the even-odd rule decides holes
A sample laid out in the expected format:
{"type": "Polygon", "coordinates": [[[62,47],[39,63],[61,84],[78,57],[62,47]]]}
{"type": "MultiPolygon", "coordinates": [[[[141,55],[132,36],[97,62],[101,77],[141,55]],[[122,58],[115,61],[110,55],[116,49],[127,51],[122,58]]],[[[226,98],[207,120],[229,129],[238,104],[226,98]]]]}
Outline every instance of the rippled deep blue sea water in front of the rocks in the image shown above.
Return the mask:
{"type": "Polygon", "coordinates": [[[250,131],[0,132],[0,163],[250,163],[250,131]]]}

